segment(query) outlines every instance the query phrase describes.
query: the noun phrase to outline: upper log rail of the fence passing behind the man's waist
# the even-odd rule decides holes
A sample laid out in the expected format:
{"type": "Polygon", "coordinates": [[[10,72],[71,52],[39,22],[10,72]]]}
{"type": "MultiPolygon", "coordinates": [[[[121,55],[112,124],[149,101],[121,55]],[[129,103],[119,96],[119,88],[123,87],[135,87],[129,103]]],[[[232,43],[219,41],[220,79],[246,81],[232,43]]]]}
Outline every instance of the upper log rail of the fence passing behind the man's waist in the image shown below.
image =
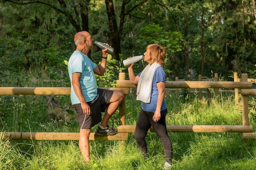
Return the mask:
{"type": "MultiPolygon", "coordinates": [[[[122,91],[128,95],[128,88],[103,88],[122,91]]],[[[70,95],[70,87],[0,87],[0,95],[70,95]]]]}

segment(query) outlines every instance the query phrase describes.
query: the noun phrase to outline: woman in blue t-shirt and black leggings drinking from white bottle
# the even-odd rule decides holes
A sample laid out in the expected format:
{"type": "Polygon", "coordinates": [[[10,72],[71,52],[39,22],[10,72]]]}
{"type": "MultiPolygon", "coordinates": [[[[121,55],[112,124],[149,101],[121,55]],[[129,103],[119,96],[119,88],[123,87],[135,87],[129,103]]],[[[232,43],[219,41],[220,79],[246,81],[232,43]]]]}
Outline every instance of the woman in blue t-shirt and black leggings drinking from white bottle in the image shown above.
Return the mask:
{"type": "Polygon", "coordinates": [[[165,50],[158,44],[150,44],[146,47],[144,61],[148,65],[135,76],[132,66],[128,66],[129,79],[132,84],[137,84],[137,100],[141,101],[142,108],[139,113],[135,128],[135,139],[137,147],[147,154],[146,134],[152,126],[157,137],[164,147],[165,163],[163,169],[172,166],[172,143],[166,130],[165,117],[167,106],[164,101],[165,72],[164,64],[165,50]]]}

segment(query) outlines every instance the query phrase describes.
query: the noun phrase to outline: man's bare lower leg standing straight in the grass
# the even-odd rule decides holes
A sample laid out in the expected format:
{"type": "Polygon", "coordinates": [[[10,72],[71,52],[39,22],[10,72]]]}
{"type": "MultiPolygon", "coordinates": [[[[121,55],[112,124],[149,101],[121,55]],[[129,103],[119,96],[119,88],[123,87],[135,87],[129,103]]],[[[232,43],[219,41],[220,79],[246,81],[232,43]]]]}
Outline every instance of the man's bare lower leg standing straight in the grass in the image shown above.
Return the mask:
{"type": "Polygon", "coordinates": [[[91,129],[80,129],[79,133],[79,148],[82,152],[83,159],[85,162],[90,161],[90,142],[89,135],[91,129]]]}

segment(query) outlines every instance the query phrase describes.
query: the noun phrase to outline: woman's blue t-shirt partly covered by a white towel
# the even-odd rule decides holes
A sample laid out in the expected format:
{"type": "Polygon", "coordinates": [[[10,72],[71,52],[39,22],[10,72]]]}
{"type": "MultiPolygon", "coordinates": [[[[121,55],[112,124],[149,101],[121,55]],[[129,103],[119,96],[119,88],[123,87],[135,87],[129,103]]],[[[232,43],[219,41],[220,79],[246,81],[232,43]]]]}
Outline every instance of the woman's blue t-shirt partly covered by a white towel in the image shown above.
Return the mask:
{"type": "MultiPolygon", "coordinates": [[[[140,76],[140,75],[141,75],[141,73],[138,74],[138,76],[140,76]]],[[[157,107],[157,97],[158,97],[157,82],[165,82],[165,72],[164,72],[164,68],[161,66],[157,67],[155,70],[155,73],[154,73],[150,102],[149,103],[141,102],[142,110],[144,110],[146,112],[154,113],[155,109],[157,107]]],[[[165,109],[167,109],[167,106],[166,106],[165,101],[163,100],[161,111],[163,111],[165,109]]]]}

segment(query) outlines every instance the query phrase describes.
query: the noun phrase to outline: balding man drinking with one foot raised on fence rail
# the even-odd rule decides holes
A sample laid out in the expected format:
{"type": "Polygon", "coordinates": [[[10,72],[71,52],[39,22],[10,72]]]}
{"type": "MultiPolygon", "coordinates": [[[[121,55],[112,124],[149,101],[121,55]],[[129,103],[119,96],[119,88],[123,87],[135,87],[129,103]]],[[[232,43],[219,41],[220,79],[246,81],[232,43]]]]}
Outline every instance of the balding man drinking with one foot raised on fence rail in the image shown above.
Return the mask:
{"type": "Polygon", "coordinates": [[[95,135],[115,135],[117,129],[110,128],[108,121],[124,99],[124,94],[97,88],[94,73],[104,75],[107,63],[107,49],[102,50],[101,64],[97,66],[87,56],[94,39],[87,31],[75,34],[76,51],[68,61],[71,81],[71,102],[77,112],[80,126],[79,148],[85,162],[90,161],[89,135],[91,128],[100,123],[95,135]],[[101,112],[105,112],[101,121],[101,112]]]}

